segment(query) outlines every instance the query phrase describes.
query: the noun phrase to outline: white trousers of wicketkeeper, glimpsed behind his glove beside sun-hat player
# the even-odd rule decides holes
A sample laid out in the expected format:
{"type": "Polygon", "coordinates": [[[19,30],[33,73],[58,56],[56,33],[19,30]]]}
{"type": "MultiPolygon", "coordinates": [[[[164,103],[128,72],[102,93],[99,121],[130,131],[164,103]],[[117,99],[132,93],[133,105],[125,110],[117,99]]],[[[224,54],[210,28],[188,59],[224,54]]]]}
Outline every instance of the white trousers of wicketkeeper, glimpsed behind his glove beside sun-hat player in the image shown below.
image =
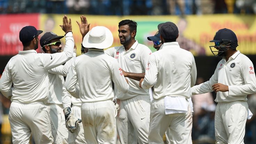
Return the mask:
{"type": "MultiPolygon", "coordinates": [[[[73,105],[71,111],[76,118],[81,119],[81,106],[73,105]]],[[[82,122],[77,123],[74,133],[69,131],[69,144],[86,144],[82,122]]]]}

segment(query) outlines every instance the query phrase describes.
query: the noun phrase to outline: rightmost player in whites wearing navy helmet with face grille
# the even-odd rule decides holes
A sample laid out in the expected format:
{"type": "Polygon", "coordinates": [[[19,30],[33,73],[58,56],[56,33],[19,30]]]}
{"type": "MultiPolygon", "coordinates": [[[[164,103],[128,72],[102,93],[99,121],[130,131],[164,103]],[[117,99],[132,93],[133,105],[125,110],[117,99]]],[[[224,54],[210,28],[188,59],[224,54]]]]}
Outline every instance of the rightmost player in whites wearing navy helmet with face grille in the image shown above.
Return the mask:
{"type": "Polygon", "coordinates": [[[192,94],[217,93],[216,144],[243,144],[248,116],[247,95],[256,93],[254,66],[247,56],[236,49],[238,40],[233,31],[218,30],[210,42],[215,42],[214,46],[210,46],[212,53],[223,56],[223,59],[209,81],[192,87],[192,94]]]}

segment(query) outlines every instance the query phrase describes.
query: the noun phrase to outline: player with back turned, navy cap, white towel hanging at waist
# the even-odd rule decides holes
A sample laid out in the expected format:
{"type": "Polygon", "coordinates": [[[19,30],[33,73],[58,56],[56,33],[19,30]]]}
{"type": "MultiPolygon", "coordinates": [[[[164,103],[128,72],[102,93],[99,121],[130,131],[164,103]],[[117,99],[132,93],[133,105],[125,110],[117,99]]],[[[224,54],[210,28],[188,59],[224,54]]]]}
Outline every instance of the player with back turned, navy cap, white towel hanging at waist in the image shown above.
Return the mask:
{"type": "Polygon", "coordinates": [[[142,88],[154,86],[151,103],[149,144],[163,144],[162,136],[169,128],[170,143],[192,144],[192,113],[189,99],[195,84],[195,60],[179,47],[178,28],[172,22],[160,24],[162,46],[154,52],[146,68],[142,88]]]}

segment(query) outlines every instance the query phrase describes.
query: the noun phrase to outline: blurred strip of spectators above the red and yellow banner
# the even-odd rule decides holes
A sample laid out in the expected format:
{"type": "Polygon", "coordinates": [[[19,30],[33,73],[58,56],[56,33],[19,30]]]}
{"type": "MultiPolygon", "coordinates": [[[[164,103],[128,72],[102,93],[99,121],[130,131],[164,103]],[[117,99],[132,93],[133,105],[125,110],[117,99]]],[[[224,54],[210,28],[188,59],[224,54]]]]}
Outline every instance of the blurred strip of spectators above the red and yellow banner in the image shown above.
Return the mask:
{"type": "Polygon", "coordinates": [[[255,0],[0,0],[0,14],[255,14],[255,0]]]}

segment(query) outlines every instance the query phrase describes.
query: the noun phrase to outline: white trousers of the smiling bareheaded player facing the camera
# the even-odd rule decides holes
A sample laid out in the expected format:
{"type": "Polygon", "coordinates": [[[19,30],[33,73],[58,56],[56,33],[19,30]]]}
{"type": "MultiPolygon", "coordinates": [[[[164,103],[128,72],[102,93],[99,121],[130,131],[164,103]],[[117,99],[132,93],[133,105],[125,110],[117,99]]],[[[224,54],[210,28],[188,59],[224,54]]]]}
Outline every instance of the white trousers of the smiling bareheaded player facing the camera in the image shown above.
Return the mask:
{"type": "Polygon", "coordinates": [[[120,101],[117,130],[121,144],[147,144],[150,96],[138,95],[120,101]]]}

